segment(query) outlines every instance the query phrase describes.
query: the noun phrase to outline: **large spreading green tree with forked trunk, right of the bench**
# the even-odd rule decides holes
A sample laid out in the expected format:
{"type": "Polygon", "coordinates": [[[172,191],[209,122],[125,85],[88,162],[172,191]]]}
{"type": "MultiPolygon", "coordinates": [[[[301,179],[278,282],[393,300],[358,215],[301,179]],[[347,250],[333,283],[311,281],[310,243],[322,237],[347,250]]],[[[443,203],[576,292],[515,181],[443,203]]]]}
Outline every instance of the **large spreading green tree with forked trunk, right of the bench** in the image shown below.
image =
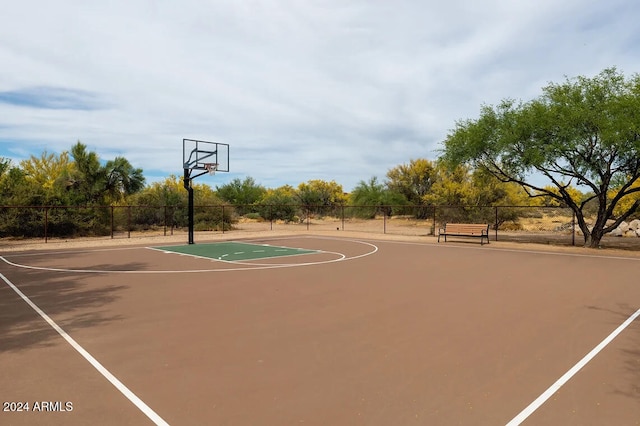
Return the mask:
{"type": "Polygon", "coordinates": [[[456,123],[443,158],[515,182],[530,197],[560,201],[574,211],[585,247],[599,247],[640,206],[636,199],[614,215],[622,199],[640,192],[634,186],[640,178],[640,76],[625,79],[610,68],[593,78],[551,83],[530,102],[483,106],[478,119],[456,123]],[[534,183],[536,175],[554,190],[534,183]],[[576,199],[573,184],[591,194],[576,199]],[[589,226],[584,208],[592,201],[596,217],[589,226]]]}

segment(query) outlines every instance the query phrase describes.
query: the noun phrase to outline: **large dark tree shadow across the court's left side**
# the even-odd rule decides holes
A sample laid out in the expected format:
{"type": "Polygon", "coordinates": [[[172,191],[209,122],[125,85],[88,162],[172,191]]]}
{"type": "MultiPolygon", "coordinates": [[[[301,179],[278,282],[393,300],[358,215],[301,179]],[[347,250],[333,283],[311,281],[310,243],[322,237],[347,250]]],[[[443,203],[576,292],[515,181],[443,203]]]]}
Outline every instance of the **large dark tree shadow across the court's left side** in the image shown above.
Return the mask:
{"type": "MultiPolygon", "coordinates": [[[[127,269],[142,265],[130,263],[127,269]]],[[[107,269],[109,265],[96,265],[107,269]]],[[[113,266],[110,266],[113,267],[113,266]]],[[[0,271],[4,272],[4,271],[0,271]]],[[[5,274],[6,276],[6,274],[5,274]]],[[[96,274],[24,270],[9,280],[65,332],[103,326],[123,320],[106,314],[128,285],[92,284],[96,274]]],[[[0,281],[0,353],[58,344],[60,335],[4,281],[0,281]]]]}

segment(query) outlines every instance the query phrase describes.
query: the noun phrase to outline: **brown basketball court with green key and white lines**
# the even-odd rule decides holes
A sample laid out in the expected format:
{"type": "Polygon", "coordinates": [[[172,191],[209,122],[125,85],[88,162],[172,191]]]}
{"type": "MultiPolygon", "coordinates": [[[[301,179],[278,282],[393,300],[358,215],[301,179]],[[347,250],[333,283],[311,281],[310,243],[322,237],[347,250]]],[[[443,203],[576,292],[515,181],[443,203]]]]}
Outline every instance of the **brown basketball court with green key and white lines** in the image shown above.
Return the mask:
{"type": "Polygon", "coordinates": [[[317,235],[5,253],[0,423],[633,424],[639,267],[317,235]]]}

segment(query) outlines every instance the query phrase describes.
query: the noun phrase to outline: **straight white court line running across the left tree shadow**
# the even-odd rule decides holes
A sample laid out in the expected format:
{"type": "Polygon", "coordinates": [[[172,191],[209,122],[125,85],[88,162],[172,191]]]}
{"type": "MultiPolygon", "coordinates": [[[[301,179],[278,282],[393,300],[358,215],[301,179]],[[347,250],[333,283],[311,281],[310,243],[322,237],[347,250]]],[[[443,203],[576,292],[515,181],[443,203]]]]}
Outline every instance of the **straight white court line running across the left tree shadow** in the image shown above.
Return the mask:
{"type": "Polygon", "coordinates": [[[13,285],[11,281],[7,279],[2,273],[0,273],[0,278],[7,283],[13,291],[16,292],[18,296],[22,298],[31,308],[38,313],[50,326],[53,328],[64,340],[67,341],[71,345],[73,349],[75,349],[84,359],[89,361],[89,364],[93,366],[100,374],[104,376],[113,386],[116,387],[129,401],[133,403],[140,411],[142,411],[152,422],[156,425],[169,425],[162,417],[160,417],[155,411],[153,411],[147,404],[145,404],[140,398],[138,398],[133,392],[129,390],[120,380],[116,378],[113,374],[109,372],[97,359],[95,359],[89,352],[87,352],[82,346],[80,346],[71,336],[67,334],[58,324],[56,324],[49,315],[45,314],[42,309],[40,309],[35,303],[31,301],[23,292],[21,292],[18,287],[13,285]]]}

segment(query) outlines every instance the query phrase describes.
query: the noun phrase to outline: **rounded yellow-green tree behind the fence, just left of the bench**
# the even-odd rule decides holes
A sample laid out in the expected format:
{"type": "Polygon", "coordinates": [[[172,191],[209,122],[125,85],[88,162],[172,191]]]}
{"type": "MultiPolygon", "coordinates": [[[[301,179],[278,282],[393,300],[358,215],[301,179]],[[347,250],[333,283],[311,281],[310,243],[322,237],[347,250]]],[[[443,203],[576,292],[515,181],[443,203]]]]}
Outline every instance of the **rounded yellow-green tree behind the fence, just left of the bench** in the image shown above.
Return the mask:
{"type": "MultiPolygon", "coordinates": [[[[425,195],[431,190],[436,178],[435,164],[419,158],[410,160],[409,164],[401,164],[387,172],[387,188],[396,192],[414,206],[425,206],[425,195]]],[[[425,219],[429,209],[420,208],[416,217],[425,219]]]]}

